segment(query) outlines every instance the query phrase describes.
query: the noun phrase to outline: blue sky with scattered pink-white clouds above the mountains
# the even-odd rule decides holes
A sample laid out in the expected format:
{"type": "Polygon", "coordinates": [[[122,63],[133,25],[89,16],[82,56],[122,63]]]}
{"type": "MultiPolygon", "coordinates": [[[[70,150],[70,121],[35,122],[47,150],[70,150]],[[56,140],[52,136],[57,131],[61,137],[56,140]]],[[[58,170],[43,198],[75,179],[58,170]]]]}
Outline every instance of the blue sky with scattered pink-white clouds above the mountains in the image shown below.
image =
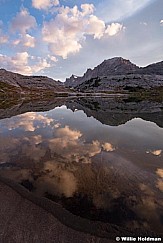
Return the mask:
{"type": "Polygon", "coordinates": [[[0,0],[0,68],[64,81],[116,56],[163,60],[162,0],[0,0]]]}

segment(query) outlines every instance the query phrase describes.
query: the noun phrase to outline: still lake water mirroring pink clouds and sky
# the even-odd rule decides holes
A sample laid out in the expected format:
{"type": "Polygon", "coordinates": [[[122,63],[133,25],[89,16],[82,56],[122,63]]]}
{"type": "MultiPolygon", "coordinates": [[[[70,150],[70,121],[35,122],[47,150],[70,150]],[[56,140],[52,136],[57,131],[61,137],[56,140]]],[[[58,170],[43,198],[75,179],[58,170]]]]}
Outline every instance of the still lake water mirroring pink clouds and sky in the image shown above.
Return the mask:
{"type": "Polygon", "coordinates": [[[162,110],[155,104],[150,113],[141,103],[133,113],[134,104],[116,102],[79,99],[15,116],[7,110],[0,175],[81,217],[161,233],[162,110]]]}

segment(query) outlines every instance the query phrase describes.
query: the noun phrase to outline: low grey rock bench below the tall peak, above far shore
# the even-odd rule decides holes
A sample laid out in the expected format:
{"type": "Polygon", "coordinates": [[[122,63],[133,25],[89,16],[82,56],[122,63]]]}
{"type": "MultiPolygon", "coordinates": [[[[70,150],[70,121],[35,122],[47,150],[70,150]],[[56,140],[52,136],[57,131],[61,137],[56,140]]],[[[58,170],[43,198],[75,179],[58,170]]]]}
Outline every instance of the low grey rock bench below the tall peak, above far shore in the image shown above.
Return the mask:
{"type": "Polygon", "coordinates": [[[127,74],[91,78],[76,86],[82,92],[145,91],[163,86],[163,75],[127,74]]]}

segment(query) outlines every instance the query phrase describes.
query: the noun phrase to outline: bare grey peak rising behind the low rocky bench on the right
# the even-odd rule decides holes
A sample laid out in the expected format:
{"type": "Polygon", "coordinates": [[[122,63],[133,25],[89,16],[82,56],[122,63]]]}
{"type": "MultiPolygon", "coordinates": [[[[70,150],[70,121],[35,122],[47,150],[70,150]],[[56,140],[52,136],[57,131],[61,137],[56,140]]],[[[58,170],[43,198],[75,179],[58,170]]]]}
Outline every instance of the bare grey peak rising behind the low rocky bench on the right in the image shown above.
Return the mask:
{"type": "Polygon", "coordinates": [[[80,84],[95,78],[120,75],[163,75],[163,61],[139,67],[128,59],[114,57],[104,60],[93,69],[87,69],[83,76],[72,75],[65,81],[66,87],[77,87],[80,84]]]}

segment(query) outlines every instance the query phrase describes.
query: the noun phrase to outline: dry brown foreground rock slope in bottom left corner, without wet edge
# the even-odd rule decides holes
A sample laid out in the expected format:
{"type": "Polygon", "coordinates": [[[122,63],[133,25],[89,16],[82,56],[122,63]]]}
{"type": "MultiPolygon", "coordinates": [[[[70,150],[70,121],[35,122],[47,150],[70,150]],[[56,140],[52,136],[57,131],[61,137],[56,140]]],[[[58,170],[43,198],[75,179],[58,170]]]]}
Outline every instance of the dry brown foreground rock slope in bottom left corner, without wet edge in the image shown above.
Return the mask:
{"type": "MultiPolygon", "coordinates": [[[[12,185],[13,187],[13,185],[12,185]]],[[[18,188],[17,188],[18,191],[18,188]]],[[[0,180],[0,242],[1,243],[41,243],[41,242],[57,242],[57,243],[83,243],[98,242],[109,243],[113,240],[99,238],[89,233],[77,231],[77,225],[73,217],[69,217],[69,226],[64,225],[56,217],[52,211],[58,210],[62,221],[66,221],[68,215],[66,212],[53,203],[48,204],[47,200],[43,200],[42,206],[38,202],[34,203],[34,199],[28,196],[23,188],[22,191],[16,192],[6,183],[0,180]],[[26,196],[25,196],[26,195],[26,196]],[[47,205],[46,205],[47,204],[47,205]],[[49,212],[46,210],[49,208],[49,212]],[[51,211],[51,212],[50,212],[51,211]]],[[[41,200],[41,199],[40,199],[41,200]]],[[[70,215],[69,215],[70,216],[70,215]]],[[[91,228],[91,223],[90,223],[91,228]]],[[[102,228],[101,228],[102,231],[102,228]]]]}

